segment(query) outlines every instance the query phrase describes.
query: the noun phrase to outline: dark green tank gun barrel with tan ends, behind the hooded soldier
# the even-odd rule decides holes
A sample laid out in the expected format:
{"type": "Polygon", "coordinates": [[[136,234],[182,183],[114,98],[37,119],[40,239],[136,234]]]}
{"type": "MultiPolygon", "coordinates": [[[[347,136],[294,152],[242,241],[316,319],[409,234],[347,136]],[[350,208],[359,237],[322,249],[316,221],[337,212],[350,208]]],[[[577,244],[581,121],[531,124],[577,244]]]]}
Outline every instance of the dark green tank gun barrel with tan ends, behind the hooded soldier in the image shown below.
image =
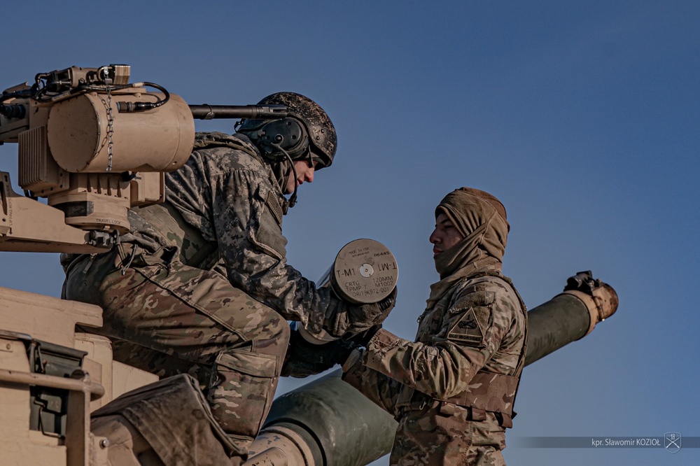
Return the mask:
{"type": "MultiPolygon", "coordinates": [[[[615,290],[590,271],[570,277],[562,293],[528,312],[525,365],[585,337],[617,304],[615,290]]],[[[255,453],[275,447],[289,465],[359,466],[389,453],[393,417],[340,376],[337,370],[278,397],[246,465],[258,464],[263,457],[256,460],[255,453]]]]}

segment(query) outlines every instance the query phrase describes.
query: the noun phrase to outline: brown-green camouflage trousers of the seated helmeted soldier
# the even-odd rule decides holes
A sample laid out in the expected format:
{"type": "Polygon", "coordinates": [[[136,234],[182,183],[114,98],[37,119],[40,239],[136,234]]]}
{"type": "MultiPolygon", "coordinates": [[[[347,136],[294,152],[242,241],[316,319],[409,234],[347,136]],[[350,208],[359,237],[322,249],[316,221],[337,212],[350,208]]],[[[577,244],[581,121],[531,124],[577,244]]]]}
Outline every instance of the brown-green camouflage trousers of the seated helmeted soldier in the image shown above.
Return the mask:
{"type": "Polygon", "coordinates": [[[179,262],[176,248],[130,244],[81,256],[66,270],[63,297],[104,310],[114,359],[158,376],[188,373],[241,460],[269,411],[289,340],[274,309],[216,271],[179,262]]]}

